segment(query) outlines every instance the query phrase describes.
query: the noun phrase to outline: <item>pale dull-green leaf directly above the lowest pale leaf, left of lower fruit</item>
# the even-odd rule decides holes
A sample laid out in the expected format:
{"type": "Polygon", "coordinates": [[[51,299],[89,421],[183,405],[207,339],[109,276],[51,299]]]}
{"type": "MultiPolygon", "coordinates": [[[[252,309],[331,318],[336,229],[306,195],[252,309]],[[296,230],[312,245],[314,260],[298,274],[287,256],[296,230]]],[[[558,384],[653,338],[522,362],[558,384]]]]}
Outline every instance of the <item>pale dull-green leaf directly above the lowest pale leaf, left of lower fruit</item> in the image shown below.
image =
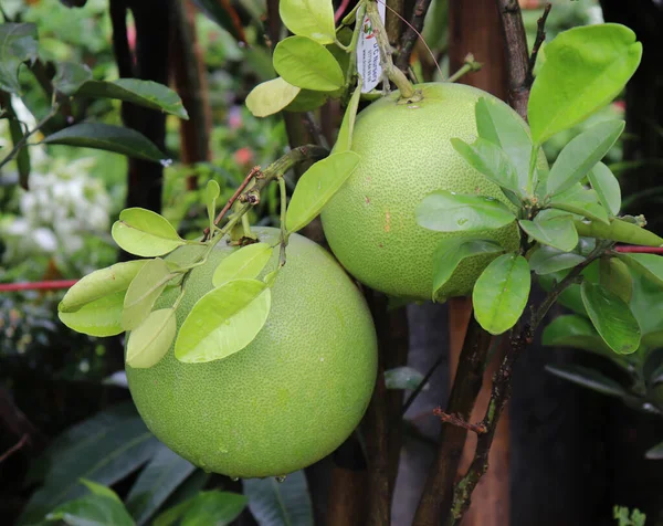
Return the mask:
{"type": "Polygon", "coordinates": [[[122,325],[126,330],[137,328],[149,316],[157,298],[175,277],[164,260],[148,260],[127,290],[122,313],[122,325]]]}

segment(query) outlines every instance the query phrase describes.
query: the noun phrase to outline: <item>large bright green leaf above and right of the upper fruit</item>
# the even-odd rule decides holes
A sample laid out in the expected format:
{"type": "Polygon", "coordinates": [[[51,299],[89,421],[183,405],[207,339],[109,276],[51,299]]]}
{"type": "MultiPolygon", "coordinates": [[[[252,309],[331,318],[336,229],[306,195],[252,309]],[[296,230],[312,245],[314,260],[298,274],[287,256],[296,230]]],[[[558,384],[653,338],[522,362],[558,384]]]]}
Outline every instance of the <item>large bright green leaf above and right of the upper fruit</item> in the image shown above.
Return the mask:
{"type": "Polygon", "coordinates": [[[641,56],[642,44],[624,25],[583,25],[559,33],[546,45],[546,63],[529,95],[534,141],[543,144],[610,103],[641,56]]]}

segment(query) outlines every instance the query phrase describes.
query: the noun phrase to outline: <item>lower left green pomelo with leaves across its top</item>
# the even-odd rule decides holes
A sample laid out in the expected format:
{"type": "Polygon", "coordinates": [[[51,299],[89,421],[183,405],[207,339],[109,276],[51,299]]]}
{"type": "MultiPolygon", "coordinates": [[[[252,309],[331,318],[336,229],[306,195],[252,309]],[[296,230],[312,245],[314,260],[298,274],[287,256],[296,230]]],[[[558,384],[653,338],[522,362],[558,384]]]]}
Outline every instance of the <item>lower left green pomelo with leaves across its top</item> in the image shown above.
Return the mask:
{"type": "MultiPolygon", "coordinates": [[[[278,230],[254,228],[274,244],[278,230]]],[[[212,288],[218,263],[235,249],[219,242],[189,278],[177,323],[212,288]]],[[[191,261],[194,246],[171,261],[191,261]]],[[[277,252],[264,274],[275,269],[277,252]]],[[[272,309],[257,337],[230,357],[182,364],[173,348],[127,379],[147,427],[193,464],[233,477],[286,475],[338,448],[368,406],[377,340],[357,286],[332,255],[293,234],[272,288],[272,309]]],[[[155,308],[171,305],[177,290],[155,308]]]]}

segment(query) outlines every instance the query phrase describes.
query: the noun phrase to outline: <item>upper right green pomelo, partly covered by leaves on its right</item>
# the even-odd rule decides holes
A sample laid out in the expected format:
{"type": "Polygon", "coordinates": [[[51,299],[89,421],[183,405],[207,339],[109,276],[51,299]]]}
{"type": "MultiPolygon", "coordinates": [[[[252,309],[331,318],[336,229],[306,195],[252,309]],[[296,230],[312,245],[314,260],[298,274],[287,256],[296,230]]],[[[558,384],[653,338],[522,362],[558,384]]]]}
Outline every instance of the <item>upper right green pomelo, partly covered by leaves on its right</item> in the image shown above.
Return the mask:
{"type": "MultiPolygon", "coordinates": [[[[515,250],[519,235],[515,222],[470,233],[433,232],[417,224],[417,207],[440,189],[493,197],[515,210],[499,187],[467,165],[450,141],[474,141],[480,97],[504,103],[461,84],[417,88],[423,93],[421,102],[397,104],[394,92],[357,116],[351,149],[361,160],[325,206],[322,220],[332,251],[357,280],[389,295],[424,301],[432,296],[433,253],[442,239],[482,236],[515,250]]],[[[469,295],[496,255],[464,260],[436,299],[469,295]]]]}

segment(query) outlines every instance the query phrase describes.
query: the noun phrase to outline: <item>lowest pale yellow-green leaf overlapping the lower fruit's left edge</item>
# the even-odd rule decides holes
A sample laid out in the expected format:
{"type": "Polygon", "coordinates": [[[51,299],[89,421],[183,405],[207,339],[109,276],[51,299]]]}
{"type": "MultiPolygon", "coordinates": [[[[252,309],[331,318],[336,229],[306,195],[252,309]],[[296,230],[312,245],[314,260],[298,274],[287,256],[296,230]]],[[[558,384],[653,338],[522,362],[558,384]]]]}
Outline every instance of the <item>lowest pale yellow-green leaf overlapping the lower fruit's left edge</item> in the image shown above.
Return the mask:
{"type": "Polygon", "coordinates": [[[144,369],[159,362],[170,349],[177,333],[175,308],[160,308],[135,330],[127,341],[126,362],[135,369],[144,369]]]}

